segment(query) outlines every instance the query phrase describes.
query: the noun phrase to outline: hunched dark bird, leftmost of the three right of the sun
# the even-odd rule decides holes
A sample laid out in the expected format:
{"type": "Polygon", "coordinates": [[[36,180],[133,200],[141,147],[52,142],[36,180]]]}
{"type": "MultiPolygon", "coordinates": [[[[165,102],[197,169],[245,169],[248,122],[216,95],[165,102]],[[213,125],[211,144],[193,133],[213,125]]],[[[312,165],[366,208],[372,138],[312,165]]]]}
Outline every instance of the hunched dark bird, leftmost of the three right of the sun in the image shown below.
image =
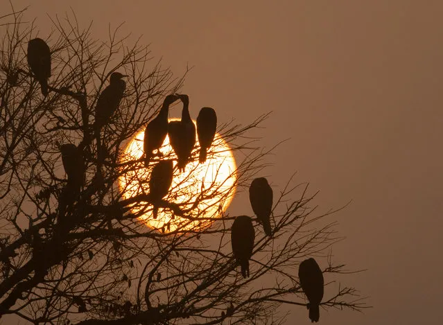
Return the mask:
{"type": "Polygon", "coordinates": [[[248,216],[238,216],[231,229],[232,252],[241,266],[243,278],[249,276],[249,259],[254,249],[254,226],[248,216]]]}

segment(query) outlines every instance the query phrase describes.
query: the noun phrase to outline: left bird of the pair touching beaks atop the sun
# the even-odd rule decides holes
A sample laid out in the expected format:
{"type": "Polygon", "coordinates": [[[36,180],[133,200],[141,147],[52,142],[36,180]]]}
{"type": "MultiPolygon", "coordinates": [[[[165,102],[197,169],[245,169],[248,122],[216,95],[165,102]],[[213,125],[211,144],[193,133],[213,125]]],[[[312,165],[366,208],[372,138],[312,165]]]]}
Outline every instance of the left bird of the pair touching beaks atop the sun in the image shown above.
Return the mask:
{"type": "Polygon", "coordinates": [[[146,126],[145,137],[143,141],[144,152],[146,155],[145,166],[148,167],[150,157],[153,155],[153,150],[157,150],[158,155],[161,155],[160,147],[163,144],[166,135],[168,134],[168,111],[169,105],[178,99],[177,95],[168,95],[164,98],[162,109],[153,121],[150,121],[146,126]]]}

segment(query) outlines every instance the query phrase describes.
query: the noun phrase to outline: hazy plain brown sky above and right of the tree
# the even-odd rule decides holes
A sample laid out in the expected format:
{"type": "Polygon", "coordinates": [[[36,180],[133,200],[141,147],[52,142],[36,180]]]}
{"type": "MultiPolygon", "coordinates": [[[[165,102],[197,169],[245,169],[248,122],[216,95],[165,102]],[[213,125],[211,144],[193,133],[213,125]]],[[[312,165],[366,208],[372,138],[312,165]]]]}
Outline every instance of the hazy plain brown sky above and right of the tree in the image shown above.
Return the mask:
{"type": "MultiPolygon", "coordinates": [[[[368,269],[343,281],[374,308],[322,310],[320,324],[441,324],[442,1],[13,2],[32,3],[26,17],[42,33],[46,14],[69,6],[97,38],[125,21],[175,76],[194,66],[183,89],[193,118],[202,106],[220,122],[273,111],[261,144],[290,138],[268,160],[274,191],[297,171],[320,189],[320,211],[352,200],[333,254],[368,269]]],[[[288,324],[310,324],[291,310],[288,324]]]]}

